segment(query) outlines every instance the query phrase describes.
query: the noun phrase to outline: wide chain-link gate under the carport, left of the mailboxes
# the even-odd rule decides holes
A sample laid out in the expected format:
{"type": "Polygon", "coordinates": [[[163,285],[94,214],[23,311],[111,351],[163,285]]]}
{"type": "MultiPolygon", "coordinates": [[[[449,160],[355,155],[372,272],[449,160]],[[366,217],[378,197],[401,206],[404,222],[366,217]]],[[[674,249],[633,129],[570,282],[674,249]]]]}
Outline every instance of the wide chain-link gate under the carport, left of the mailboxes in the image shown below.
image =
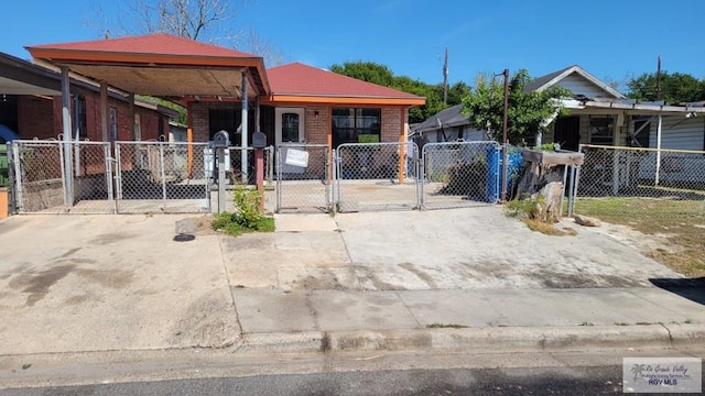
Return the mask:
{"type": "Polygon", "coordinates": [[[210,212],[207,143],[116,142],[119,213],[210,212]]]}

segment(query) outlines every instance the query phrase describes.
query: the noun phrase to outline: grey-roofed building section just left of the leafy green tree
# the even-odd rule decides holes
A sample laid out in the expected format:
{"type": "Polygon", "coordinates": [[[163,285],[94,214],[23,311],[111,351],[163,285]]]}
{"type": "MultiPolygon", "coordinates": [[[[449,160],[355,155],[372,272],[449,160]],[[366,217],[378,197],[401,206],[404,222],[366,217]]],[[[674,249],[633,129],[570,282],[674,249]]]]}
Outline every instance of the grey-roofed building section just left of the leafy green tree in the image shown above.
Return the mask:
{"type": "Polygon", "coordinates": [[[425,143],[489,140],[484,131],[470,127],[463,114],[463,105],[449,107],[411,129],[411,136],[419,146],[425,143]]]}

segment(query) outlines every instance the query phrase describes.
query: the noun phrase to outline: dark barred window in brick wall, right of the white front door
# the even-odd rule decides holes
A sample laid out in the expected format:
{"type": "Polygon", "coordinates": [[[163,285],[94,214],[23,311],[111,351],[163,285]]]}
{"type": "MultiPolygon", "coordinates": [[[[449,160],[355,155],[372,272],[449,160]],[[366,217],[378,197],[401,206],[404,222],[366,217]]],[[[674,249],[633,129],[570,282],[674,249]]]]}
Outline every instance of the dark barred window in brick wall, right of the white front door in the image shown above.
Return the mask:
{"type": "Polygon", "coordinates": [[[381,109],[334,108],[333,145],[380,142],[381,109]]]}

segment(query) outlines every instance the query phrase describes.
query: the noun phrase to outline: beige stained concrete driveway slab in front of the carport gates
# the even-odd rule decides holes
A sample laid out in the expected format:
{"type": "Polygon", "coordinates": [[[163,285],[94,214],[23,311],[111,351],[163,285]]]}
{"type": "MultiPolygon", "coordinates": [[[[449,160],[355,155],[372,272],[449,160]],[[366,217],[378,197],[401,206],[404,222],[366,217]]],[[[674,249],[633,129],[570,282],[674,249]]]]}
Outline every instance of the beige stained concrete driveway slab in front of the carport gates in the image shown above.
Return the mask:
{"type": "Polygon", "coordinates": [[[220,240],[174,242],[175,219],[22,216],[1,221],[2,352],[236,342],[240,329],[220,240]]]}

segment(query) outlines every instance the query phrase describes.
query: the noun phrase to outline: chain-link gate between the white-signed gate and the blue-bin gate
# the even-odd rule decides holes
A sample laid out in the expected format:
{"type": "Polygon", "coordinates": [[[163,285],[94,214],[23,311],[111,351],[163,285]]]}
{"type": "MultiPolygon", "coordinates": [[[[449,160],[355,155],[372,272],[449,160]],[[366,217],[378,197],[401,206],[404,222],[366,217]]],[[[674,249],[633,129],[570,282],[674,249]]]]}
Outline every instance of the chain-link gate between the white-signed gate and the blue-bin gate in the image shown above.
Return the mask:
{"type": "Polygon", "coordinates": [[[336,150],[336,211],[417,209],[419,147],[344,143],[336,150]]]}

